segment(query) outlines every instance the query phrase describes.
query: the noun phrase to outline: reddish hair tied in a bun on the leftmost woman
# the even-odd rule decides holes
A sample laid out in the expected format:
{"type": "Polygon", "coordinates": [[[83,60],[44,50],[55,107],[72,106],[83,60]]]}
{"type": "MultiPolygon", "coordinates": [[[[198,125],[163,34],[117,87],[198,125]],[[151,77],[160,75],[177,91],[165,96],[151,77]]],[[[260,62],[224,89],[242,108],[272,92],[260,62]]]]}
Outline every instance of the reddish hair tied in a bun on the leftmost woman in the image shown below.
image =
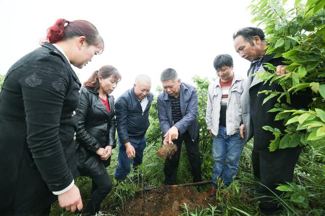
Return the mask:
{"type": "Polygon", "coordinates": [[[101,52],[103,52],[103,38],[97,28],[86,20],[68,21],[66,19],[58,19],[54,25],[47,29],[46,39],[51,44],[55,44],[58,41],[64,41],[76,36],[84,36],[87,44],[100,47],[101,52]]]}

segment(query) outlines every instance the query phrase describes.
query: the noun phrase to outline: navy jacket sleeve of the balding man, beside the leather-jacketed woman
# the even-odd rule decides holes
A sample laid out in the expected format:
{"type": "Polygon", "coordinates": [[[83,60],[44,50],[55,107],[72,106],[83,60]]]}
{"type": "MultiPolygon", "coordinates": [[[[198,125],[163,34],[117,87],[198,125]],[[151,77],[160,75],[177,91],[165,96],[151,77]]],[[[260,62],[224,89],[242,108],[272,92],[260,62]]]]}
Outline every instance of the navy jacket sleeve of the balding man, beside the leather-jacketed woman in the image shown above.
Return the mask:
{"type": "Polygon", "coordinates": [[[123,98],[119,98],[115,103],[116,128],[118,137],[122,144],[129,142],[127,132],[127,104],[123,98]]]}

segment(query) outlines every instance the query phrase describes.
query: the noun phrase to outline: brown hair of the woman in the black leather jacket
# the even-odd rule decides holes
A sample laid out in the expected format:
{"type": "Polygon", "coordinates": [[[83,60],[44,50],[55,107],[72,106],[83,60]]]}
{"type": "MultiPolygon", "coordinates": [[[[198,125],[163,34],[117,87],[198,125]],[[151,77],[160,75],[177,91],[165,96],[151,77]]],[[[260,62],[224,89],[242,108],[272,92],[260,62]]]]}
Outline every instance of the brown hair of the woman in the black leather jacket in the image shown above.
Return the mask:
{"type": "Polygon", "coordinates": [[[103,77],[103,79],[106,79],[110,76],[113,76],[113,79],[115,81],[120,81],[122,79],[120,73],[115,67],[112,65],[105,65],[102,66],[99,70],[93,71],[88,80],[83,83],[83,86],[88,89],[98,90],[100,88],[100,81],[98,78],[103,77]]]}

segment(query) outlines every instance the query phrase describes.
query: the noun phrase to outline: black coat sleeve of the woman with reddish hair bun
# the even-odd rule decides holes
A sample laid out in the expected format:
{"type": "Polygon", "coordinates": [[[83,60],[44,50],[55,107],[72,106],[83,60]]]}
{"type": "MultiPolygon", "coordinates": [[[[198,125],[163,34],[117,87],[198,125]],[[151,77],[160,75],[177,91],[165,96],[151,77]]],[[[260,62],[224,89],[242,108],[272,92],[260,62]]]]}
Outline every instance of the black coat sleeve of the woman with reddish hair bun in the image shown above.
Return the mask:
{"type": "Polygon", "coordinates": [[[68,73],[61,59],[43,56],[27,62],[18,79],[26,115],[27,145],[51,191],[63,190],[73,181],[59,137],[63,101],[69,88],[68,73]]]}

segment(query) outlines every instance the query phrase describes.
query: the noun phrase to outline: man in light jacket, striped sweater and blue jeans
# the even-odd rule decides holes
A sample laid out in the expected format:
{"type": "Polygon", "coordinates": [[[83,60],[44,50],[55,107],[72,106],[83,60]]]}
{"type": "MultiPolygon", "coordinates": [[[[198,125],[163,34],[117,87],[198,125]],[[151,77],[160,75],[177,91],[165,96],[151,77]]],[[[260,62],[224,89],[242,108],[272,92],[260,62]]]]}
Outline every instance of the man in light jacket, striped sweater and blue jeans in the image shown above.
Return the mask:
{"type": "Polygon", "coordinates": [[[210,196],[215,195],[218,178],[226,187],[234,181],[243,150],[239,128],[244,79],[234,73],[233,58],[228,54],[215,57],[213,66],[218,78],[209,86],[206,112],[207,129],[213,137],[212,186],[207,191],[210,196]]]}

